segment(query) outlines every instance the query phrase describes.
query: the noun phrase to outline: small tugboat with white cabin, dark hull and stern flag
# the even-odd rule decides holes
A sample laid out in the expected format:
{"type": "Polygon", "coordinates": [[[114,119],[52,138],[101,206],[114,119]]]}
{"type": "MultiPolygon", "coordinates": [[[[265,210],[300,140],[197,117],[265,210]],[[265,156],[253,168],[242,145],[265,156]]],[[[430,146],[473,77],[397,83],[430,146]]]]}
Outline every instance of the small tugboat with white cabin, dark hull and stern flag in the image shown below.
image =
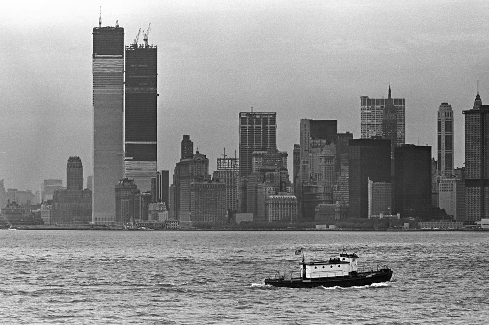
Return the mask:
{"type": "Polygon", "coordinates": [[[276,287],[289,288],[312,288],[323,287],[352,287],[364,286],[372,283],[387,282],[391,280],[392,269],[388,265],[381,267],[377,264],[376,270],[359,270],[357,266],[358,255],[349,254],[345,250],[340,257],[330,258],[328,261],[306,262],[303,249],[295,251],[295,255],[302,253],[302,264],[300,273],[276,272],[273,276],[265,278],[265,284],[276,287]]]}

